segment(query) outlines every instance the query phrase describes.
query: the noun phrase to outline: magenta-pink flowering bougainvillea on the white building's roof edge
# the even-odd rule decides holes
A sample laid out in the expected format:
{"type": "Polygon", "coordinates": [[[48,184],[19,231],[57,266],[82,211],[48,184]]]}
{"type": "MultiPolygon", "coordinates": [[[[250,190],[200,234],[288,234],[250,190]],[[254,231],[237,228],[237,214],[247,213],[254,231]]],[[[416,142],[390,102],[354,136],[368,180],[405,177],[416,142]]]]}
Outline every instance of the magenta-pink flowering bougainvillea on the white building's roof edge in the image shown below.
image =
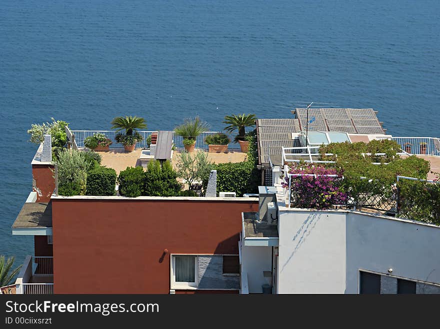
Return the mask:
{"type": "MultiPolygon", "coordinates": [[[[328,209],[331,205],[345,205],[347,203],[347,194],[340,186],[341,169],[311,164],[291,164],[288,173],[297,175],[291,176],[290,203],[293,207],[328,209]]],[[[288,176],[284,177],[282,187],[289,188],[288,176]]]]}

